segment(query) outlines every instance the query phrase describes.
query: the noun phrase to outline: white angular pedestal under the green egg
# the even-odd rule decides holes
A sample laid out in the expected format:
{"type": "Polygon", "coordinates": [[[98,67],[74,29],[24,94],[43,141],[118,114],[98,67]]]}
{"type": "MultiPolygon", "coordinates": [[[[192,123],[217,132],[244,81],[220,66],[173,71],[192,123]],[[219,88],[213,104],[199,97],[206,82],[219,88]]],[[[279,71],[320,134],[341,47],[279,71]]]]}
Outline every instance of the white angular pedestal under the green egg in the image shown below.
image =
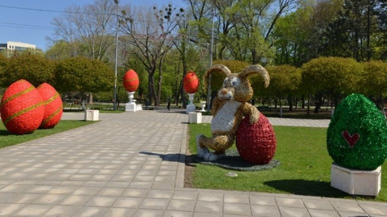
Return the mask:
{"type": "Polygon", "coordinates": [[[331,186],[349,194],[377,196],[380,182],[380,166],[375,170],[352,170],[332,164],[331,186]]]}

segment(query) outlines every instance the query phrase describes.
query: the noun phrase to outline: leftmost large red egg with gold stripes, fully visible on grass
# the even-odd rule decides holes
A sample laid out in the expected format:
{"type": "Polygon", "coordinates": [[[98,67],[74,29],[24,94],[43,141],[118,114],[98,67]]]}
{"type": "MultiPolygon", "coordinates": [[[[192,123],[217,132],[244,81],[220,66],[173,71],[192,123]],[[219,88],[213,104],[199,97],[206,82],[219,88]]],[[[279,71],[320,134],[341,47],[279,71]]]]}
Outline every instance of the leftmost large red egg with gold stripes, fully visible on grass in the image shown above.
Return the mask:
{"type": "Polygon", "coordinates": [[[0,102],[0,114],[6,128],[15,134],[38,129],[44,115],[44,103],[36,88],[26,80],[9,86],[0,102]]]}

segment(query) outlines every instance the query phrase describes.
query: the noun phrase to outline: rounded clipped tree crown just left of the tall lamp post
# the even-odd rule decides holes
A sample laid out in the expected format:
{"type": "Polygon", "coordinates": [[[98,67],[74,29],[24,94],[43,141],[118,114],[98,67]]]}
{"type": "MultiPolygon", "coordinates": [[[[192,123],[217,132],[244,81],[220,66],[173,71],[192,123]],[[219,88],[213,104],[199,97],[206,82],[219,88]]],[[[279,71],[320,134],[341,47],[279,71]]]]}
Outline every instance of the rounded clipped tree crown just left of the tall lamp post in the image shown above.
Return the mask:
{"type": "Polygon", "coordinates": [[[99,60],[72,57],[58,63],[55,79],[60,91],[100,92],[112,90],[114,72],[99,60]]]}

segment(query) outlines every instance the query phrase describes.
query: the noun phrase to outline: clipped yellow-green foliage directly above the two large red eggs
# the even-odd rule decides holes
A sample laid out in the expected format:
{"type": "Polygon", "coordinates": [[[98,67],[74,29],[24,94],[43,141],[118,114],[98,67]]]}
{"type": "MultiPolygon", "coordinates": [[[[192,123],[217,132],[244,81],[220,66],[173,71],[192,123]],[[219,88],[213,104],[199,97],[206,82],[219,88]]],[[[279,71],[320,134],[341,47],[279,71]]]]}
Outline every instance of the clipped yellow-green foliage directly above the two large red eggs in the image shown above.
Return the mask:
{"type": "Polygon", "coordinates": [[[55,63],[40,55],[20,55],[9,59],[3,77],[4,86],[8,87],[15,81],[25,79],[35,87],[47,82],[53,84],[55,63]]]}

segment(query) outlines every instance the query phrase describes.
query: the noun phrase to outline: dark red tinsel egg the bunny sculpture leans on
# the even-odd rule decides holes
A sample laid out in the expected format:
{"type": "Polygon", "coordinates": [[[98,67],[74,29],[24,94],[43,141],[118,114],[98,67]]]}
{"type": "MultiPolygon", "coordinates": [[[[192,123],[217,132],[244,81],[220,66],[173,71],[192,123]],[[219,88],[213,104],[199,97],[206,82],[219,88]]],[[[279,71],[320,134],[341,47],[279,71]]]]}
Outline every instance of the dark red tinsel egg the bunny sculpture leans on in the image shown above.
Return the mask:
{"type": "Polygon", "coordinates": [[[255,124],[250,124],[249,118],[245,117],[237,130],[237,150],[247,162],[267,164],[273,158],[277,145],[273,127],[262,113],[255,124]]]}

